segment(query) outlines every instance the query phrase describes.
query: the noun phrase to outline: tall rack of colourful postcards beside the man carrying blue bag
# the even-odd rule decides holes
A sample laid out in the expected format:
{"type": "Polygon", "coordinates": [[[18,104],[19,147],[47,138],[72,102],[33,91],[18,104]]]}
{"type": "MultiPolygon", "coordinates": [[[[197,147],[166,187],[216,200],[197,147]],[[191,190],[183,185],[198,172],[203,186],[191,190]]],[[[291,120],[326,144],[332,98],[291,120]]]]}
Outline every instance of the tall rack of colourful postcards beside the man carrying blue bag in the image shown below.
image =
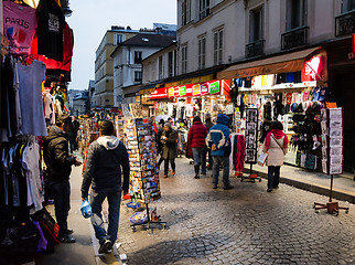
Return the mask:
{"type": "Polygon", "coordinates": [[[132,231],[143,226],[152,231],[157,225],[166,229],[166,222],[161,221],[157,210],[151,210],[149,204],[161,198],[159,169],[157,167],[155,139],[150,120],[125,120],[126,142],[131,167],[131,195],[133,200],[144,202],[147,221],[131,224],[132,231]]]}

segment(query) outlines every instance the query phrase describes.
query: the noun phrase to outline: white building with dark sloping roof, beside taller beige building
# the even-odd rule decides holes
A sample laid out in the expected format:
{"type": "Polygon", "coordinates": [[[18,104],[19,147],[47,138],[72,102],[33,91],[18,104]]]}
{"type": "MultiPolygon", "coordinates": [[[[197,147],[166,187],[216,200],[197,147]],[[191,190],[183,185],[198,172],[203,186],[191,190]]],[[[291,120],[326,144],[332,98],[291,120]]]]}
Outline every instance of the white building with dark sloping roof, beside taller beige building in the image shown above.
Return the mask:
{"type": "Polygon", "coordinates": [[[140,33],[119,43],[112,52],[115,106],[135,103],[142,83],[142,60],[174,43],[175,36],[140,33]]]}

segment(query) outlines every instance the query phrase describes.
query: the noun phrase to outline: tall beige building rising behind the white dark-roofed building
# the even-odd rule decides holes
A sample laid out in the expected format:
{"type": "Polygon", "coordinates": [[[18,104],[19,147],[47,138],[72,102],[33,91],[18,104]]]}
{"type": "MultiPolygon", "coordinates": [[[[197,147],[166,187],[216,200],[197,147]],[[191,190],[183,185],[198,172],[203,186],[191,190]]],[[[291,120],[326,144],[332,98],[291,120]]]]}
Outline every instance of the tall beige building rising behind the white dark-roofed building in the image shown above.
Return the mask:
{"type": "Polygon", "coordinates": [[[129,26],[111,26],[108,30],[97,51],[95,60],[95,94],[94,105],[97,107],[114,106],[114,61],[110,56],[118,43],[121,43],[132,36],[138,31],[129,26]]]}

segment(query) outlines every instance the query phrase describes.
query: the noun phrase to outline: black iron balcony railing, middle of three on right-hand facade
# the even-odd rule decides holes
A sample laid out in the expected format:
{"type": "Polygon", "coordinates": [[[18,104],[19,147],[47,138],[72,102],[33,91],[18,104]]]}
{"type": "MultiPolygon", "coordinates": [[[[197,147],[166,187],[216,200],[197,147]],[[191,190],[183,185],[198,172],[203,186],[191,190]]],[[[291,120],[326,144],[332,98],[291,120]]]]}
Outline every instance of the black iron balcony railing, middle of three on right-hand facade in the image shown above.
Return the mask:
{"type": "Polygon", "coordinates": [[[281,35],[281,49],[288,50],[292,47],[303,46],[308,44],[309,26],[302,26],[290,30],[281,35]]]}

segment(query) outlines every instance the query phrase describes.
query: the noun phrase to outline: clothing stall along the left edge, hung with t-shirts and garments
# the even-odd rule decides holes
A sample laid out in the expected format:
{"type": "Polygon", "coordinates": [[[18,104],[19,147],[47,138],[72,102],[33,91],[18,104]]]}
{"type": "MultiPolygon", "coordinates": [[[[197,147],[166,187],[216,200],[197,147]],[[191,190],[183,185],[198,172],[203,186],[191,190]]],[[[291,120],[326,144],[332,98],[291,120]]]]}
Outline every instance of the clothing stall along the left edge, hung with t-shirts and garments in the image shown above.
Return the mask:
{"type": "Polygon", "coordinates": [[[73,31],[55,0],[33,4],[2,1],[0,255],[4,263],[31,261],[58,244],[58,226],[44,206],[41,145],[46,126],[68,112],[73,31]]]}

